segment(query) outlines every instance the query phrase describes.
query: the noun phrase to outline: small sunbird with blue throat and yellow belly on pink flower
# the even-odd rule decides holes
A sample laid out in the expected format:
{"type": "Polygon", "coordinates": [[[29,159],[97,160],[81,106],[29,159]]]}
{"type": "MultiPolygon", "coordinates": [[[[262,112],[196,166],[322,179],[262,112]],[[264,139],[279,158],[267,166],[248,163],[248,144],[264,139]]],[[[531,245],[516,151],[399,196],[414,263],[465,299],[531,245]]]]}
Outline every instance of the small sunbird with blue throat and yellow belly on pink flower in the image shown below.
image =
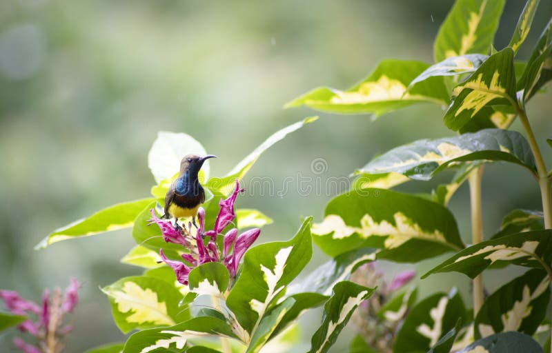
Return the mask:
{"type": "Polygon", "coordinates": [[[180,172],[177,179],[170,183],[165,195],[164,218],[175,217],[175,228],[179,229],[178,219],[192,217],[195,224],[195,215],[199,205],[205,201],[205,191],[197,179],[197,174],[203,163],[210,158],[216,158],[213,154],[200,157],[197,154],[186,154],[180,162],[180,172]]]}

